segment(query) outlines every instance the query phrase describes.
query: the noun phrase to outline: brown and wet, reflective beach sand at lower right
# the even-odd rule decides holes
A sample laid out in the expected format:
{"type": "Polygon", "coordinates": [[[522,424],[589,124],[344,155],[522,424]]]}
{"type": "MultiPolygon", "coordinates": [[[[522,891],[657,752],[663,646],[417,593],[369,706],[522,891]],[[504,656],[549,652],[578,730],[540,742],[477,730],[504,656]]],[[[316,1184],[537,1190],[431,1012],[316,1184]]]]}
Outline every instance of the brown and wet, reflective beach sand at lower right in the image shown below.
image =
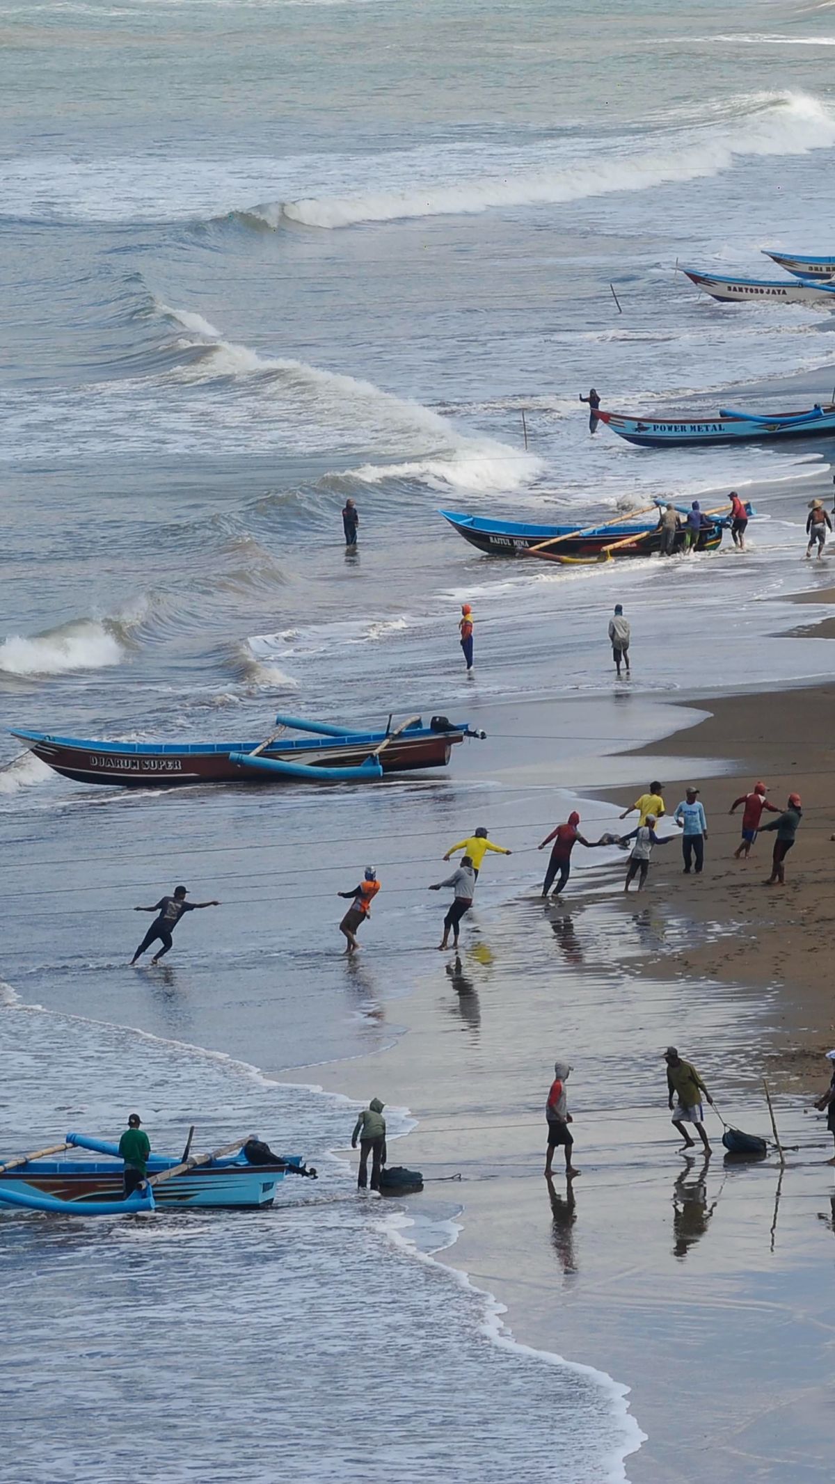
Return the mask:
{"type": "MultiPolygon", "coordinates": [[[[672,810],[691,781],[670,782],[676,757],[709,758],[713,775],[727,760],[727,776],[702,781],[703,877],[681,876],[676,840],[656,852],[650,889],[626,898],[613,852],[544,907],[544,855],[531,856],[529,895],[467,926],[460,962],[427,951],[399,1006],[408,1034],[313,1074],[409,1106],[418,1128],[390,1160],[429,1177],[414,1209],[460,1192],[463,1232],[445,1261],[509,1306],[516,1339],[632,1388],[648,1441],[629,1480],[805,1484],[829,1478],[832,1435],[835,1184],[810,1094],[826,1085],[820,1054],[835,1045],[835,689],[694,703],[710,718],[633,755],[638,787],[620,800],[659,772],[672,810]],[[727,809],[758,776],[777,801],[798,789],[807,810],[782,892],[761,884],[770,837],[749,865],[730,859],[739,816],[727,809]],[[670,1040],[725,1117],[762,1135],[767,1073],[792,1146],[783,1175],[774,1153],[725,1163],[715,1114],[712,1159],[679,1156],[661,1060],[670,1040]],[[572,1190],[564,1174],[549,1190],[541,1172],[555,1057],[575,1068],[572,1190]],[[460,1186],[433,1184],[455,1172],[460,1186]]],[[[583,809],[599,818],[601,806],[583,809]]]]}

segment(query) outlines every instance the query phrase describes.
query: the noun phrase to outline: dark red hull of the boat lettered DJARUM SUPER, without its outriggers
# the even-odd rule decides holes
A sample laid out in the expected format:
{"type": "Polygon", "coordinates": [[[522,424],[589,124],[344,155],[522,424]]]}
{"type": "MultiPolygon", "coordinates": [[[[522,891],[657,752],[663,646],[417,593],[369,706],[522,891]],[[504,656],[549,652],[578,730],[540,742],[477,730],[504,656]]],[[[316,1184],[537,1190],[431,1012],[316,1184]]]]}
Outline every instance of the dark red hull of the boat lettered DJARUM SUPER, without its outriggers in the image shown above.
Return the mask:
{"type": "MultiPolygon", "coordinates": [[[[430,727],[406,732],[396,738],[380,754],[383,773],[408,773],[430,767],[446,767],[452,746],[461,742],[466,727],[451,732],[432,732],[430,727]]],[[[153,743],[96,742],[82,738],[59,738],[39,732],[15,732],[13,736],[47,763],[62,778],[77,784],[105,784],[119,788],[175,788],[188,784],[271,784],[288,782],[286,776],[273,769],[255,769],[234,763],[233,752],[252,752],[258,742],[227,743],[153,743]]],[[[340,769],[360,767],[369,754],[384,742],[386,733],[368,733],[343,741],[323,738],[286,742],[280,739],[264,748],[265,761],[292,764],[310,763],[311,782],[316,782],[314,767],[328,769],[332,782],[340,769]],[[331,772],[332,770],[332,772],[331,772]]],[[[298,775],[294,775],[298,779],[298,775]]],[[[349,775],[350,776],[350,775],[349,775]]],[[[292,781],[292,778],[289,779],[292,781]]]]}

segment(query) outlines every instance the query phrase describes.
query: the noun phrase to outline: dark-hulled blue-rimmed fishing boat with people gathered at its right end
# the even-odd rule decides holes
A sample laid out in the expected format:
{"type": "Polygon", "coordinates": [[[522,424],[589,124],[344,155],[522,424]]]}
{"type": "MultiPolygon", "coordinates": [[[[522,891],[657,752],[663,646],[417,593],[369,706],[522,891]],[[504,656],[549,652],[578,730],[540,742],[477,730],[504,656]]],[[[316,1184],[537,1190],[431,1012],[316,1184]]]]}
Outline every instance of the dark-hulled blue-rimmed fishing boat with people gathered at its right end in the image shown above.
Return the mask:
{"type": "MultiPolygon", "coordinates": [[[[666,505],[657,500],[656,505],[666,505]]],[[[574,525],[528,525],[518,521],[491,521],[481,515],[439,510],[458,536],[488,556],[544,556],[561,562],[610,561],[613,556],[648,556],[659,551],[661,533],[657,519],[617,521],[577,530],[574,525]]],[[[681,509],[681,515],[687,515],[681,509]]],[[[710,518],[699,534],[699,551],[716,551],[722,542],[724,519],[710,518]]],[[[679,545],[684,546],[682,530],[679,545]]]]}

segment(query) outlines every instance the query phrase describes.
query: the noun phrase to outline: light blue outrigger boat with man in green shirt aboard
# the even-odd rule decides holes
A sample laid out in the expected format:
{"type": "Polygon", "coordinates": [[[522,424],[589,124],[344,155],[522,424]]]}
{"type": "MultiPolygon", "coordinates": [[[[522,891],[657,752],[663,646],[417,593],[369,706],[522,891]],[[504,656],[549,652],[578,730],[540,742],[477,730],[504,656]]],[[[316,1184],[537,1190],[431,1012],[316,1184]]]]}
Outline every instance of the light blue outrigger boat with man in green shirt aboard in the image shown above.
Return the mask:
{"type": "Polygon", "coordinates": [[[218,1150],[215,1155],[185,1160],[151,1155],[147,1186],[125,1198],[119,1144],[86,1134],[67,1134],[64,1144],[0,1165],[0,1215],[12,1208],[56,1214],[64,1211],[68,1215],[125,1215],[159,1206],[268,1206],[274,1201],[276,1186],[288,1171],[310,1174],[300,1155],[282,1156],[279,1163],[252,1165],[243,1153],[243,1141],[231,1149],[231,1155],[218,1150]],[[49,1158],[65,1149],[90,1150],[99,1158],[49,1158]]]}

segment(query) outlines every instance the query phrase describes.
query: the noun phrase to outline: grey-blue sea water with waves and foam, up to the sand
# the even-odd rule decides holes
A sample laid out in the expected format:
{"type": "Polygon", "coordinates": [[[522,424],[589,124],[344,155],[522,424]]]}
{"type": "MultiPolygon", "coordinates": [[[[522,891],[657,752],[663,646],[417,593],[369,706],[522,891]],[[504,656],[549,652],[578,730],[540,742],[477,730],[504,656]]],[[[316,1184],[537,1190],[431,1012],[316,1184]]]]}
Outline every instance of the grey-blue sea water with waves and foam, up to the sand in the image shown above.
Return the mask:
{"type": "MultiPolygon", "coordinates": [[[[666,699],[831,674],[829,644],[771,638],[795,622],[780,600],[820,580],[798,558],[829,445],[656,454],[590,439],[577,401],[593,383],[624,408],[713,407],[756,381],[792,405],[786,377],[804,375],[801,401],[835,380],[828,315],[719,306],[675,273],[831,251],[831,9],[758,0],[733,25],[712,0],[667,9],[0,0],[4,724],[260,739],[279,706],[421,708],[491,733],[448,776],[314,795],[126,797],[0,741],[4,1143],[59,1134],[76,1107],[119,1126],[129,1088],[157,1144],[199,1103],[206,1135],[255,1117],[326,1166],[314,1201],[291,1192],[258,1221],[3,1223],[10,1284],[55,1273],[30,1284],[25,1328],[19,1310],[12,1404],[28,1398],[37,1441],[15,1480],[131,1477],[138,1459],[160,1480],[623,1477],[638,1428],[618,1386],[497,1345],[489,1298],[397,1245],[414,1238],[397,1212],[353,1204],[328,1158],[350,1113],[288,1082],[366,1052],[383,1066],[397,1000],[427,974],[445,982],[423,954],[424,889],[476,812],[519,849],[486,910],[529,886],[553,787],[605,778],[618,746],[669,730],[666,699]],[[491,562],[438,516],[580,525],[731,485],[762,516],[749,554],[663,568],[491,562]],[[613,690],[614,601],[633,620],[630,692],[613,690]],[[571,702],[556,735],[519,709],[549,696],[571,702]],[[512,779],[543,736],[553,779],[512,779]],[[334,893],[371,856],[374,954],[346,966],[334,893]],[[165,974],[131,974],[131,910],[172,877],[224,907],[181,928],[165,974]],[[182,1460],[160,1465],[174,1330],[194,1389],[182,1460]],[[206,1432],[230,1346],[237,1408],[254,1398],[276,1435],[288,1411],[303,1429],[285,1463],[242,1454],[240,1413],[206,1432]],[[387,1416],[380,1349],[396,1356],[387,1416]],[[88,1451],[58,1465],[58,1420],[96,1386],[128,1426],[114,1441],[85,1407],[88,1451]]],[[[455,1214],[432,1211],[424,1248],[454,1236],[455,1214]]]]}

